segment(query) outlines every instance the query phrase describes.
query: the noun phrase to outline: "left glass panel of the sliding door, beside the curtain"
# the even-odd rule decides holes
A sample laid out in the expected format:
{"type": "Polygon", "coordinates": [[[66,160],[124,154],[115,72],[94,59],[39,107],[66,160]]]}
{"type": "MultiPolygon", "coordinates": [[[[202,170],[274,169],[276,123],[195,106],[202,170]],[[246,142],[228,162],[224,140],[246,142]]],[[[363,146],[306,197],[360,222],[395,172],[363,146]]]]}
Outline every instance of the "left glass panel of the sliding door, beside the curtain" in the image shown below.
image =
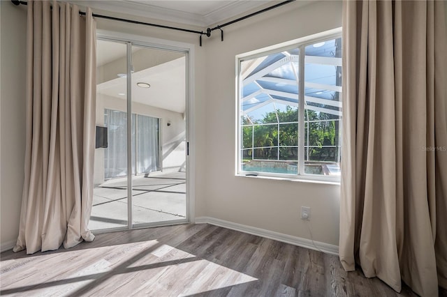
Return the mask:
{"type": "Polygon", "coordinates": [[[126,43],[96,43],[96,148],[89,229],[128,226],[126,43]]]}

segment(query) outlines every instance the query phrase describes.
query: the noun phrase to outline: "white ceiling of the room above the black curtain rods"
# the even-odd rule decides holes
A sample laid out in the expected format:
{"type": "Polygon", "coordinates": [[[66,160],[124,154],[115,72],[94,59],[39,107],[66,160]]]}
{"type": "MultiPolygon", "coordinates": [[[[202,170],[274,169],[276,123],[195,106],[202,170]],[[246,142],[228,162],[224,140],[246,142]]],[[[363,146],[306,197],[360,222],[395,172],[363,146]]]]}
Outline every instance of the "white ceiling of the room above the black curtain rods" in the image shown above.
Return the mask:
{"type": "Polygon", "coordinates": [[[152,1],[152,0],[112,0],[112,1],[70,1],[92,9],[124,13],[154,20],[175,22],[206,28],[224,20],[243,15],[256,8],[279,3],[277,0],[201,0],[201,1],[152,1]]]}

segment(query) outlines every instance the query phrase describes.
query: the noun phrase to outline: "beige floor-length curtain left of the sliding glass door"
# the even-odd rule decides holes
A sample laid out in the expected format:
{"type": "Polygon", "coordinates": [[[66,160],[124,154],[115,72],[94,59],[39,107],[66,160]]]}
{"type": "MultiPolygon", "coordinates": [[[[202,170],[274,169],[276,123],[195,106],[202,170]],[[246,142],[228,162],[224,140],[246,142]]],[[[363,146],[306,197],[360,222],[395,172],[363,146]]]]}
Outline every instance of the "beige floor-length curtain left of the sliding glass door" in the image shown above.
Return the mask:
{"type": "Polygon", "coordinates": [[[27,147],[15,252],[93,241],[96,36],[91,10],[28,1],[27,147]],[[60,7],[59,7],[60,6],[60,7]]]}

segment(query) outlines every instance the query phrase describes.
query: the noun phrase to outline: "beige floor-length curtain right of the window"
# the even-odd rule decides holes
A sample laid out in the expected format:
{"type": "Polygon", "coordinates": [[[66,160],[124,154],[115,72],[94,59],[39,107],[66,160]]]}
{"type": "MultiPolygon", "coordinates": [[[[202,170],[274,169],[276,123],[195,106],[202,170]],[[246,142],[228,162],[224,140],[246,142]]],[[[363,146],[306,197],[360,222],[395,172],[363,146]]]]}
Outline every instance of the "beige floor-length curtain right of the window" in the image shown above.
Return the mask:
{"type": "Polygon", "coordinates": [[[444,1],[344,1],[339,257],[396,291],[447,288],[444,1]]]}

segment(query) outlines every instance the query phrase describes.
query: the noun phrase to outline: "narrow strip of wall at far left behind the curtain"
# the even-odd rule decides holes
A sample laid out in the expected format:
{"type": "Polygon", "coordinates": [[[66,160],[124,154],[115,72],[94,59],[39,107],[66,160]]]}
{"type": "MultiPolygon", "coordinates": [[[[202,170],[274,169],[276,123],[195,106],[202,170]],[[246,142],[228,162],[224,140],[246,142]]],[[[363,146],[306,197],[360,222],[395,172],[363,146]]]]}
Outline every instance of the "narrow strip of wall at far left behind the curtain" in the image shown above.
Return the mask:
{"type": "Polygon", "coordinates": [[[24,179],[25,59],[27,11],[0,1],[0,243],[19,234],[24,179]]]}

